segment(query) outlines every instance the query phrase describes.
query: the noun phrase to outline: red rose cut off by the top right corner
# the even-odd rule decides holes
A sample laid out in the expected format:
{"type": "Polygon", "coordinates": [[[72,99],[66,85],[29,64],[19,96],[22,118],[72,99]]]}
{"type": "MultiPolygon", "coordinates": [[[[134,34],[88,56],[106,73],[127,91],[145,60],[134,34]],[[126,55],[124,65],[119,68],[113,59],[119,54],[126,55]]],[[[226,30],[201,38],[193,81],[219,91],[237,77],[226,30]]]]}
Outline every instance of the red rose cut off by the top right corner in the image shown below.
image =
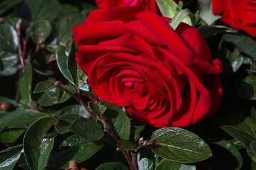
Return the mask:
{"type": "Polygon", "coordinates": [[[255,0],[212,0],[213,13],[223,16],[220,21],[238,30],[256,36],[255,0]]]}

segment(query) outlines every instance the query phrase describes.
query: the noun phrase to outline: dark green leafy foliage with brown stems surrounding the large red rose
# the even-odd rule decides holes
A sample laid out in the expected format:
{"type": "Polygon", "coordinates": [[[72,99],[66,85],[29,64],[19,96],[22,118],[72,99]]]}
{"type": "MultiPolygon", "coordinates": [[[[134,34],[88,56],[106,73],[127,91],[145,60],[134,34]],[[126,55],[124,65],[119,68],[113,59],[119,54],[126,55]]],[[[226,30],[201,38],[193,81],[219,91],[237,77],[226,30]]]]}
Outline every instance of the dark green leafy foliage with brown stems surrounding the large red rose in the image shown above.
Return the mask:
{"type": "Polygon", "coordinates": [[[224,64],[217,115],[186,129],[138,123],[95,96],[72,42],[93,1],[1,2],[1,169],[256,169],[256,40],[218,23],[209,2],[198,1],[199,15],[188,3],[195,16],[179,4],[171,23],[198,27],[224,64]]]}

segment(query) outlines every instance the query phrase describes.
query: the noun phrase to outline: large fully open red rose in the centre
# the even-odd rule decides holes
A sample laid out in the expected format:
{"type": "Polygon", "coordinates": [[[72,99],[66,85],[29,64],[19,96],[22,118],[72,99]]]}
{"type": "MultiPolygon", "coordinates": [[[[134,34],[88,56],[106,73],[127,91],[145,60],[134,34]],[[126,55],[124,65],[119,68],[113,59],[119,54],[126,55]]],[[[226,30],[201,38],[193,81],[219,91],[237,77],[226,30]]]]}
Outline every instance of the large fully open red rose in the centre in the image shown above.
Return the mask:
{"type": "Polygon", "coordinates": [[[98,9],[73,28],[78,65],[92,90],[156,127],[193,125],[214,115],[222,62],[212,62],[196,28],[181,23],[174,31],[170,18],[140,10],[98,9]]]}

